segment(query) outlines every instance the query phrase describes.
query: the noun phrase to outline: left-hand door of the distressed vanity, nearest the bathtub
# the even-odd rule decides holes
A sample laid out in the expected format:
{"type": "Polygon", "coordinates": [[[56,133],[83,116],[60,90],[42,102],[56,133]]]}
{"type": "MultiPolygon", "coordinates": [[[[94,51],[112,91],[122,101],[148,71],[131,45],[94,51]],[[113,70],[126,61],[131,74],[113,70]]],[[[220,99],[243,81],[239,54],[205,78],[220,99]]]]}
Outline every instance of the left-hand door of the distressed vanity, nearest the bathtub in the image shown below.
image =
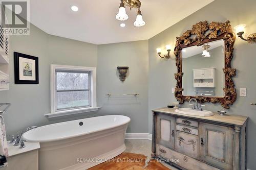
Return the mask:
{"type": "Polygon", "coordinates": [[[156,124],[156,143],[174,149],[175,117],[158,114],[156,124]]]}

